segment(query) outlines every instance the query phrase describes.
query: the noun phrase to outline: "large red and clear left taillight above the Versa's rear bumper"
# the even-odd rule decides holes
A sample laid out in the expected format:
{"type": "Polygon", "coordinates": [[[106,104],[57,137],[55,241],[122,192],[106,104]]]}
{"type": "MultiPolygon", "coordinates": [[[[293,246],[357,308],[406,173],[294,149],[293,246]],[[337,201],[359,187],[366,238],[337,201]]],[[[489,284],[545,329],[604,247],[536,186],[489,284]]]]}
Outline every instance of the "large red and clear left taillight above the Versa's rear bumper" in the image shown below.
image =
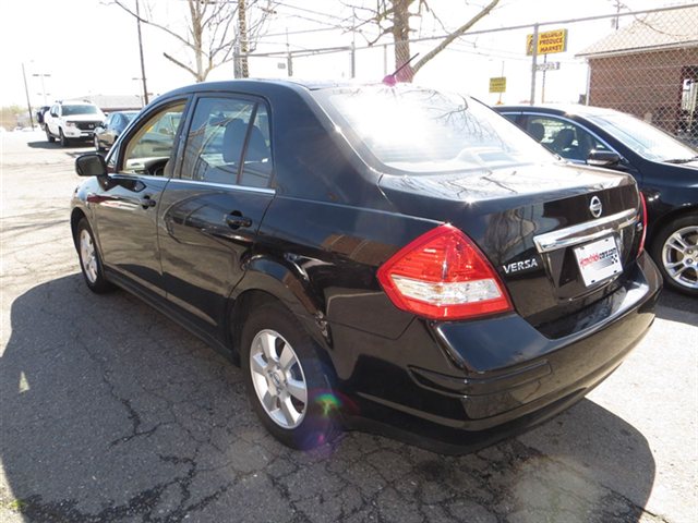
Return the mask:
{"type": "Polygon", "coordinates": [[[422,234],[378,269],[393,303],[431,319],[452,320],[512,311],[494,269],[453,226],[422,234]]]}

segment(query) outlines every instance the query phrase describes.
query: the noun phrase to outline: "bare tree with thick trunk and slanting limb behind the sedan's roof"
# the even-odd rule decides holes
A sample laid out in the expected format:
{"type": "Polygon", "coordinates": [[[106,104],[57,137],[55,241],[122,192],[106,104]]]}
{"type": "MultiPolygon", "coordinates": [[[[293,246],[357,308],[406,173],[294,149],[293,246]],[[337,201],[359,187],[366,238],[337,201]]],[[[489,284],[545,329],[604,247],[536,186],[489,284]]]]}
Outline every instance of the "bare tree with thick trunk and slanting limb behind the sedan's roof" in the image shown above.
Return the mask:
{"type": "Polygon", "coordinates": [[[422,69],[431,59],[443,51],[449,44],[456,38],[462,36],[473,25],[476,25],[481,19],[492,12],[492,10],[500,3],[500,0],[491,0],[484,7],[478,8],[479,12],[460,25],[455,31],[446,31],[444,24],[438,16],[430,8],[426,0],[374,0],[375,5],[366,8],[364,5],[349,4],[354,13],[359,12],[358,16],[361,21],[359,26],[374,24],[378,28],[378,34],[375,38],[369,40],[369,45],[376,44],[385,35],[392,35],[395,42],[395,68],[400,69],[398,80],[401,82],[411,82],[414,74],[422,69]],[[410,59],[410,20],[416,16],[422,16],[424,12],[430,12],[432,16],[441,24],[446,31],[447,36],[431,51],[421,57],[416,63],[404,66],[410,59]]]}

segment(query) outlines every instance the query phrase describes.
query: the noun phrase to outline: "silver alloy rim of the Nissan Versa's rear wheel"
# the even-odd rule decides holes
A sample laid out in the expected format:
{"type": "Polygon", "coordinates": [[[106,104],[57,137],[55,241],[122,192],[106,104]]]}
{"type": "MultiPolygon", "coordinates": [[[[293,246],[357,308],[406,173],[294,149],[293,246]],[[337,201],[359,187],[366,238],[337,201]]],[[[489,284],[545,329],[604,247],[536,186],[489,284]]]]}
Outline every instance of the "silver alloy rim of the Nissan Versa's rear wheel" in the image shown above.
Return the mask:
{"type": "Polygon", "coordinates": [[[298,427],[308,410],[308,385],[291,344],[275,330],[262,330],[252,340],[250,369],[266,414],[282,428],[298,427]]]}

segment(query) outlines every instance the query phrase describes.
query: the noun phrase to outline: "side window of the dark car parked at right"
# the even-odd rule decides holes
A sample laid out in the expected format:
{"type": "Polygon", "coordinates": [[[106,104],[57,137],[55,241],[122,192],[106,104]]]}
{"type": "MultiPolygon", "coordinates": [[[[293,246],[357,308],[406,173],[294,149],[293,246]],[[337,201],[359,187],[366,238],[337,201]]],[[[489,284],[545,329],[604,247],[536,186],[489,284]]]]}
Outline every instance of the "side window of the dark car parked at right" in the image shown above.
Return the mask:
{"type": "Polygon", "coordinates": [[[530,115],[526,132],[553,153],[569,160],[586,161],[589,151],[609,148],[581,126],[555,117],[530,115]]]}

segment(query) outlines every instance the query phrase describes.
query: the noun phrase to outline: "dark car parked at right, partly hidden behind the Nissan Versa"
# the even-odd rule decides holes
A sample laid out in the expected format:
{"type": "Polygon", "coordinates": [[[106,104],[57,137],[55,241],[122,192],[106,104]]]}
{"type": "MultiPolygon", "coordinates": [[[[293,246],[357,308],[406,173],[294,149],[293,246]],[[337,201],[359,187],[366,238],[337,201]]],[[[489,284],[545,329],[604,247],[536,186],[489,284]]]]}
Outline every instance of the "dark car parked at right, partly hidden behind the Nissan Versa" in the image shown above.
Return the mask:
{"type": "Polygon", "coordinates": [[[698,151],[660,129],[589,106],[494,108],[574,163],[633,175],[647,203],[648,250],[666,284],[698,296],[698,151]]]}

